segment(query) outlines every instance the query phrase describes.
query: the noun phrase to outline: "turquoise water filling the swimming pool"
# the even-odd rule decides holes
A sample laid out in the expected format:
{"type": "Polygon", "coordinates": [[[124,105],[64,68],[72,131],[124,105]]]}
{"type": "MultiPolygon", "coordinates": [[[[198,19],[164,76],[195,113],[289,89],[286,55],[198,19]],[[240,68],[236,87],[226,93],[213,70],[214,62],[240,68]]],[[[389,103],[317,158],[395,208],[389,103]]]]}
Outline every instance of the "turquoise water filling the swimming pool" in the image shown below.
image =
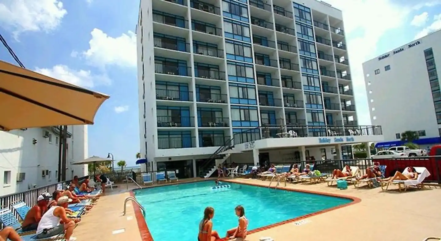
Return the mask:
{"type": "Polygon", "coordinates": [[[135,190],[146,209],[146,222],[155,241],[197,240],[198,224],[207,206],[214,208],[214,230],[225,236],[238,225],[234,213],[243,205],[250,223],[248,230],[351,202],[349,199],[289,192],[234,183],[230,189],[213,191],[213,181],[169,185],[135,190]]]}

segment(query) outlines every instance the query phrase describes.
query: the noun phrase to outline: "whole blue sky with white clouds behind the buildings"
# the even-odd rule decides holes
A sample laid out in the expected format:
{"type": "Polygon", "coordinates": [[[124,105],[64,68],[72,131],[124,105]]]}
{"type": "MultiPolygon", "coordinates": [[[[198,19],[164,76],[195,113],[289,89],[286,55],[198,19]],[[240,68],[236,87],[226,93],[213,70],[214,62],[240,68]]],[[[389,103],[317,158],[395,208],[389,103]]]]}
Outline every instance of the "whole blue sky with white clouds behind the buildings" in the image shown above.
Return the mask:
{"type": "MultiPolygon", "coordinates": [[[[360,125],[370,116],[362,63],[441,29],[441,0],[324,0],[343,11],[360,125]]],[[[89,126],[89,156],[140,152],[139,0],[0,0],[0,33],[26,68],[110,95],[89,126]]],[[[14,60],[0,46],[0,59],[14,60]]]]}

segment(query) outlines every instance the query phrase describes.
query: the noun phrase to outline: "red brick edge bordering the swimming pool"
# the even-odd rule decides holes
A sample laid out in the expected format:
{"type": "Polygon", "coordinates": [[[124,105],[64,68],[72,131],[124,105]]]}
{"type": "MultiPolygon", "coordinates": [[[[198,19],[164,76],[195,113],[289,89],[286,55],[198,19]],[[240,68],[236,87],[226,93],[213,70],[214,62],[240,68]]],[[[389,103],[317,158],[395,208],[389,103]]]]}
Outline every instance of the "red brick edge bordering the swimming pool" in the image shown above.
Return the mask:
{"type": "MultiPolygon", "coordinates": [[[[195,182],[204,182],[204,181],[205,180],[195,181],[195,182]]],[[[251,185],[251,186],[258,186],[258,187],[266,187],[266,188],[268,188],[268,186],[266,186],[266,185],[257,184],[257,183],[242,183],[242,182],[235,182],[233,180],[222,180],[222,182],[232,182],[232,183],[237,183],[237,184],[242,184],[242,185],[251,185]]],[[[185,183],[191,183],[191,182],[185,182],[185,183]]],[[[177,182],[177,183],[173,183],[173,184],[170,184],[170,185],[176,185],[176,184],[180,184],[180,183],[177,182]]],[[[146,187],[146,188],[152,188],[152,187],[146,187]]],[[[275,189],[275,187],[270,187],[270,188],[275,189]]],[[[352,200],[352,202],[347,203],[347,204],[341,204],[341,205],[338,205],[338,206],[333,207],[333,208],[328,208],[328,209],[317,211],[317,212],[310,213],[310,214],[307,214],[307,215],[303,215],[303,216],[300,216],[300,217],[297,217],[297,218],[294,218],[294,219],[288,219],[288,220],[285,220],[285,221],[282,221],[282,222],[277,222],[277,223],[274,223],[274,224],[263,226],[263,227],[260,227],[260,228],[254,229],[254,230],[250,230],[250,231],[248,231],[247,234],[254,234],[254,233],[257,233],[257,232],[260,232],[260,231],[263,231],[263,230],[268,230],[270,228],[277,227],[277,226],[280,226],[280,225],[283,225],[283,224],[287,224],[287,223],[290,223],[290,222],[297,222],[297,221],[302,220],[302,219],[310,218],[310,217],[315,216],[315,215],[319,215],[319,214],[322,214],[322,213],[325,213],[325,212],[333,211],[333,210],[336,210],[336,209],[339,209],[339,208],[348,207],[349,205],[358,204],[359,202],[361,202],[361,199],[359,199],[358,197],[351,197],[351,196],[339,195],[339,194],[334,194],[334,193],[315,192],[315,191],[309,191],[309,190],[303,190],[303,189],[294,189],[294,188],[288,188],[288,187],[278,187],[277,189],[286,190],[286,191],[293,191],[293,192],[301,192],[301,193],[319,194],[319,195],[330,196],[330,197],[346,198],[346,199],[352,200]]],[[[135,197],[135,193],[133,193],[133,191],[130,191],[130,196],[131,197],[135,197]]],[[[135,211],[135,218],[136,218],[136,221],[138,222],[139,233],[141,235],[142,241],[153,241],[152,234],[150,234],[149,228],[147,227],[146,219],[144,219],[144,216],[142,215],[141,208],[139,208],[138,205],[136,205],[134,201],[132,201],[132,206],[133,206],[133,209],[135,211]]],[[[217,241],[226,241],[226,240],[228,240],[228,238],[218,239],[217,241]]]]}

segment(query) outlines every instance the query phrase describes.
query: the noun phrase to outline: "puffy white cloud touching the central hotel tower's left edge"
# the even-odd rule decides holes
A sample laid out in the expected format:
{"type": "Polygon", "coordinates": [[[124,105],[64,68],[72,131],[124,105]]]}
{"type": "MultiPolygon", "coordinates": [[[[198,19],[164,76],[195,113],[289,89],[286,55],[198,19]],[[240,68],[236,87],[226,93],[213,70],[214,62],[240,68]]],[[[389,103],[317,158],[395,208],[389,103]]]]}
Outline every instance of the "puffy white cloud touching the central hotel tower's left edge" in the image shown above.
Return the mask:
{"type": "Polygon", "coordinates": [[[136,67],[136,34],[128,31],[119,37],[110,37],[102,30],[90,33],[89,49],[82,52],[89,64],[97,67],[118,65],[136,67]]]}

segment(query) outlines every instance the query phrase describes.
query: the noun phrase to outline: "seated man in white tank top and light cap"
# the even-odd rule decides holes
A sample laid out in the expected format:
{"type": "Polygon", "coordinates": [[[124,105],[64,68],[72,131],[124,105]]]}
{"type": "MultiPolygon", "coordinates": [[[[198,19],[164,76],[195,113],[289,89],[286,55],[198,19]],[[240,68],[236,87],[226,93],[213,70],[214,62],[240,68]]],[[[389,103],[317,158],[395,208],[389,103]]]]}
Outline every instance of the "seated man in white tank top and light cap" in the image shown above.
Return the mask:
{"type": "Polygon", "coordinates": [[[64,238],[68,241],[76,240],[75,237],[71,237],[74,232],[75,223],[80,219],[69,219],[66,215],[67,205],[72,200],[69,197],[60,197],[56,206],[52,206],[41,217],[37,227],[37,239],[43,239],[64,234],[64,238]],[[63,221],[64,224],[60,224],[63,221]]]}

